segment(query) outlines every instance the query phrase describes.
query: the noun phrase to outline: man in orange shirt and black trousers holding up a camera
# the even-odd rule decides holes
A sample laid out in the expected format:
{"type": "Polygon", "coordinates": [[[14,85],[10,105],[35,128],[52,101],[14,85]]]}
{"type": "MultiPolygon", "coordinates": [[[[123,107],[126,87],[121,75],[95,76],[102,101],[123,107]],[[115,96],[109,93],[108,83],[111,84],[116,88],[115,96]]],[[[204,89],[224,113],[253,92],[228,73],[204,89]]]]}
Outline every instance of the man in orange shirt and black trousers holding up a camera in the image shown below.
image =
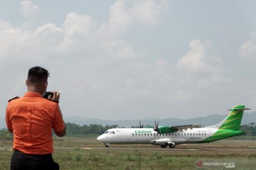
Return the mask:
{"type": "Polygon", "coordinates": [[[6,125],[14,133],[14,153],[11,170],[59,169],[53,162],[52,129],[59,137],[65,135],[65,123],[58,106],[60,93],[46,92],[49,73],[42,67],[28,70],[28,92],[22,98],[12,98],[6,108],[6,125]]]}

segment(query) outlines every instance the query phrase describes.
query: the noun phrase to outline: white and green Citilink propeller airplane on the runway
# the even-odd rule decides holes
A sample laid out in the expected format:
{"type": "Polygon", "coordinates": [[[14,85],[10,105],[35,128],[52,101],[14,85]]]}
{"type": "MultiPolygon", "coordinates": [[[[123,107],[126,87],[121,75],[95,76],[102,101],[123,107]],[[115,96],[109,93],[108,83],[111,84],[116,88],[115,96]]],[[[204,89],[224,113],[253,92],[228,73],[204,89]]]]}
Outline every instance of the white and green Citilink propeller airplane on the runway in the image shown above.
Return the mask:
{"type": "Polygon", "coordinates": [[[234,106],[228,109],[229,115],[220,123],[203,128],[198,124],[159,126],[156,121],[154,128],[114,128],[97,137],[97,141],[105,143],[105,147],[110,147],[111,144],[151,144],[174,148],[184,143],[223,140],[245,134],[239,130],[245,110],[251,109],[243,105],[234,106]]]}

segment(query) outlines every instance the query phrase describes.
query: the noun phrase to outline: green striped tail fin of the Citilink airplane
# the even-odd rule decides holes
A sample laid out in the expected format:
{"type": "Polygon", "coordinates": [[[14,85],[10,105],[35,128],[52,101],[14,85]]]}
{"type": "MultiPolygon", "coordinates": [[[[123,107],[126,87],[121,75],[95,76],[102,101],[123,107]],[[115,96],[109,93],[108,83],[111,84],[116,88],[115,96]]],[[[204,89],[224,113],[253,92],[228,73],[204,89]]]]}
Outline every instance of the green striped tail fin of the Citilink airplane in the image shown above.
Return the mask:
{"type": "Polygon", "coordinates": [[[250,110],[249,108],[245,108],[245,106],[238,105],[234,106],[226,118],[225,122],[220,125],[219,129],[223,130],[239,130],[241,120],[242,120],[242,115],[245,110],[250,110]]]}

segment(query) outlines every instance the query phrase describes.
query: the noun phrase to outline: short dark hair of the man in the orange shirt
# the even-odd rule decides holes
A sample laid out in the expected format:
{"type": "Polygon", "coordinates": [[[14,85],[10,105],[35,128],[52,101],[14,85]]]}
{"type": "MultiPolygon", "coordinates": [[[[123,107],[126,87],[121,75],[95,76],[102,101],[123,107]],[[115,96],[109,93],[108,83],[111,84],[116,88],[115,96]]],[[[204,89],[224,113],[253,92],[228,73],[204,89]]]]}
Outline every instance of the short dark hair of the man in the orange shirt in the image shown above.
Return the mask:
{"type": "Polygon", "coordinates": [[[41,84],[47,81],[49,76],[50,73],[43,67],[36,66],[28,70],[28,81],[32,84],[41,84]]]}

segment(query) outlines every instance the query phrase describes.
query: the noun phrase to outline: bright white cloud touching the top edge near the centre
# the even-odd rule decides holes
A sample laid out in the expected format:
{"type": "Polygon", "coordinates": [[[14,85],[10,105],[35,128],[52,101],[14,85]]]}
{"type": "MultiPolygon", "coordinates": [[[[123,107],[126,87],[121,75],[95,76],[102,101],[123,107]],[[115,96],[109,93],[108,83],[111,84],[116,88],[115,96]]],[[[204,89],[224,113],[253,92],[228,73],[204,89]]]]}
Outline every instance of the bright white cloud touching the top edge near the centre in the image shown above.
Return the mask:
{"type": "Polygon", "coordinates": [[[119,36],[127,33],[134,23],[155,26],[167,9],[167,1],[116,1],[110,6],[110,18],[100,25],[98,35],[119,36]]]}

